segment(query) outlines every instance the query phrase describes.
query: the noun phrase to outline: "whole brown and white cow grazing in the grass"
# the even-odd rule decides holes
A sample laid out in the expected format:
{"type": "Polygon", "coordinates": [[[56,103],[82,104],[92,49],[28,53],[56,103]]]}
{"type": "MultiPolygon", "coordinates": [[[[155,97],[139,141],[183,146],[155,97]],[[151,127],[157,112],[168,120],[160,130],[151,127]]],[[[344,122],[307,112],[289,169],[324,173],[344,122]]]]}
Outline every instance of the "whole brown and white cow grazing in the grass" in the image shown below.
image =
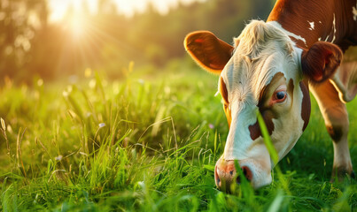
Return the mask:
{"type": "Polygon", "coordinates": [[[345,102],[357,93],[357,60],[342,57],[357,45],[356,0],[277,0],[268,21],[252,20],[233,46],[206,31],[188,34],[184,45],[198,64],[220,75],[229,134],[214,170],[219,188],[229,190],[234,160],[254,188],[271,183],[274,163],[257,111],[280,160],[307,127],[309,90],[333,140],[332,177],[354,178],[345,102]]]}

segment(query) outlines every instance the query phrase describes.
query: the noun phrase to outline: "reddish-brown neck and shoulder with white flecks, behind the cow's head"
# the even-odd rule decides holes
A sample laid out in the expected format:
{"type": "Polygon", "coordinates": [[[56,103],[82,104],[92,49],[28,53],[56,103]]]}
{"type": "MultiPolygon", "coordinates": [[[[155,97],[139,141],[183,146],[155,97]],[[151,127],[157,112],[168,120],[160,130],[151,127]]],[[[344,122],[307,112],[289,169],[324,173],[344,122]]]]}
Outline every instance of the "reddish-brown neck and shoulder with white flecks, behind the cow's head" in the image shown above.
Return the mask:
{"type": "Polygon", "coordinates": [[[268,21],[279,23],[300,48],[307,49],[314,42],[325,41],[333,42],[345,51],[357,44],[356,0],[327,0],[323,3],[277,0],[268,21]]]}

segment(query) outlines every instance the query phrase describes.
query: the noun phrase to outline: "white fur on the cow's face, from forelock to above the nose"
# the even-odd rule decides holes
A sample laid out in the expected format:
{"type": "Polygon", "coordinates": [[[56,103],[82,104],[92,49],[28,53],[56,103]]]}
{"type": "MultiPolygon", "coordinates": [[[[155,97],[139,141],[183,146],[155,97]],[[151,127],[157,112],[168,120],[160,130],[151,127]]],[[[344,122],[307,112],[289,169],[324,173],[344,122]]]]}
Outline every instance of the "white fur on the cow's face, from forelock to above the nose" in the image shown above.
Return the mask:
{"type": "MultiPolygon", "coordinates": [[[[253,23],[257,24],[257,22],[253,23]]],[[[247,27],[261,27],[259,25],[261,23],[247,27]]],[[[257,123],[257,111],[263,110],[260,108],[261,105],[258,106],[263,88],[266,88],[264,99],[267,101],[262,102],[263,106],[274,114],[271,120],[274,125],[271,139],[279,159],[295,145],[304,126],[301,117],[303,92],[299,86],[302,79],[300,75],[302,50],[293,47],[294,43],[288,37],[289,34],[284,34],[273,25],[265,24],[264,27],[267,27],[264,28],[266,30],[263,32],[266,33],[264,38],[261,37],[264,41],[255,41],[257,43],[250,43],[249,38],[244,37],[244,33],[249,34],[249,30],[259,30],[244,29],[245,31],[238,37],[240,42],[233,57],[221,72],[221,79],[228,92],[231,115],[229,135],[221,159],[238,160],[241,166],[249,167],[252,170],[254,187],[269,184],[270,170],[273,168],[263,138],[259,136],[253,140],[250,131],[250,126],[257,123]],[[254,54],[254,50],[259,52],[254,54]],[[270,100],[279,87],[287,87],[286,100],[272,104],[270,100]]],[[[261,30],[259,32],[262,33],[261,30]]],[[[257,32],[251,34],[256,35],[257,32]]]]}

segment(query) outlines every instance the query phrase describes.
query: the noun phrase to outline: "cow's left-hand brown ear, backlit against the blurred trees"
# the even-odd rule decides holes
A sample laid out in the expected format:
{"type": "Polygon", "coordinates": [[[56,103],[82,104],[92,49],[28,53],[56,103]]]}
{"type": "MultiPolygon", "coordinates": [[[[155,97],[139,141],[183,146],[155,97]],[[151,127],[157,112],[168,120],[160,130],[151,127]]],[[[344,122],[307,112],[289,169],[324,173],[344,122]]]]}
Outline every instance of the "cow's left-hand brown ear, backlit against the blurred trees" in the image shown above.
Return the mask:
{"type": "Polygon", "coordinates": [[[233,51],[231,45],[207,31],[188,34],[184,46],[190,56],[206,71],[218,74],[228,63],[233,51]]]}

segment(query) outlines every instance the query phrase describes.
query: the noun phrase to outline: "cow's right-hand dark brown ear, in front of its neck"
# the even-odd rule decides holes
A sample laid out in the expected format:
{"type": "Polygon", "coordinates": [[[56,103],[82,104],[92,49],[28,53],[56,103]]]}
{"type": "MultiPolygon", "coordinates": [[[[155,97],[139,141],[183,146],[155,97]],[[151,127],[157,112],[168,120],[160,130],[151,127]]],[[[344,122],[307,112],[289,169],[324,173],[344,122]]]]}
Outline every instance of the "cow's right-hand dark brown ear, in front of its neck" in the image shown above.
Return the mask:
{"type": "Polygon", "coordinates": [[[342,51],[330,42],[315,42],[301,55],[301,69],[314,83],[329,79],[342,61],[342,51]]]}

